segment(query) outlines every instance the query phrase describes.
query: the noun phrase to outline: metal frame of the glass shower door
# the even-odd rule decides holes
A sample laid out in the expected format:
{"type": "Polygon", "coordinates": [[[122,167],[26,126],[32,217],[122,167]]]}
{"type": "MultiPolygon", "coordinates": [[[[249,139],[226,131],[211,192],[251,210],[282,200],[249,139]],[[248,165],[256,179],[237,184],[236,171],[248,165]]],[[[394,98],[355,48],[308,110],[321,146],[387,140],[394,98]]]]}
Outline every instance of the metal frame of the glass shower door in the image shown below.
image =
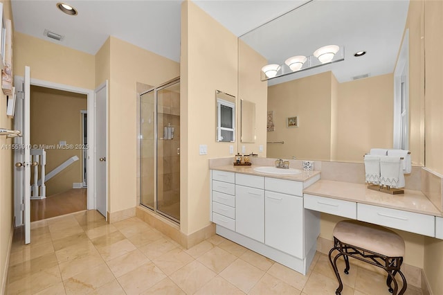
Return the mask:
{"type": "MultiPolygon", "coordinates": [[[[163,84],[160,84],[157,87],[152,87],[151,89],[143,92],[140,94],[140,120],[139,120],[139,124],[141,125],[141,120],[143,118],[143,114],[142,114],[142,107],[141,107],[141,97],[143,95],[145,95],[146,93],[149,93],[151,91],[154,91],[154,167],[155,167],[155,172],[154,172],[154,207],[151,208],[150,206],[143,204],[142,203],[142,195],[140,196],[140,204],[142,206],[145,206],[147,208],[150,208],[152,211],[154,211],[154,213],[162,215],[164,217],[167,217],[168,219],[177,222],[177,224],[180,224],[180,220],[177,220],[177,218],[168,215],[167,213],[164,213],[162,211],[158,210],[158,199],[159,199],[159,157],[158,157],[158,150],[159,150],[159,101],[158,101],[158,96],[157,93],[167,87],[170,87],[174,84],[180,83],[180,77],[174,78],[172,80],[169,80],[168,82],[165,82],[163,84]]],[[[142,133],[142,128],[140,128],[140,134],[139,134],[139,138],[143,138],[143,133],[142,133]]],[[[140,152],[142,152],[142,145],[143,145],[143,141],[140,141],[140,152]]],[[[142,158],[141,158],[142,159],[142,158]]],[[[141,161],[140,159],[140,161],[141,161]]],[[[141,163],[140,165],[140,173],[142,173],[143,170],[143,164],[141,163]]],[[[140,192],[141,194],[143,193],[143,180],[140,181],[140,192]]],[[[180,200],[181,202],[181,200],[180,200]]]]}

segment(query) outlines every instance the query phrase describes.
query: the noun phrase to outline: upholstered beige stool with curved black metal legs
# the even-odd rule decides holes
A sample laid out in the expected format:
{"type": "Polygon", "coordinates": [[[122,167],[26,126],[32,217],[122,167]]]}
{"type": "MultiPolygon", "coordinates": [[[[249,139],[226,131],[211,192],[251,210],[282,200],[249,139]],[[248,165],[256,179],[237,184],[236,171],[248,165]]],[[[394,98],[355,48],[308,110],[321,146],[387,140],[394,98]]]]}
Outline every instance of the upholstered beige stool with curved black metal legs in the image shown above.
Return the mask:
{"type": "Polygon", "coordinates": [[[338,279],[335,294],[341,294],[343,283],[337,269],[337,259],[345,259],[345,274],[349,274],[349,257],[381,267],[388,273],[386,285],[392,294],[397,294],[398,284],[395,275],[398,273],[403,280],[399,295],[406,291],[406,278],[400,271],[404,256],[404,240],[389,229],[366,222],[345,220],[338,222],[334,228],[334,248],[329,251],[329,261],[338,279]],[[332,253],[338,251],[334,258],[332,253]],[[393,288],[391,287],[393,283],[393,288]]]}

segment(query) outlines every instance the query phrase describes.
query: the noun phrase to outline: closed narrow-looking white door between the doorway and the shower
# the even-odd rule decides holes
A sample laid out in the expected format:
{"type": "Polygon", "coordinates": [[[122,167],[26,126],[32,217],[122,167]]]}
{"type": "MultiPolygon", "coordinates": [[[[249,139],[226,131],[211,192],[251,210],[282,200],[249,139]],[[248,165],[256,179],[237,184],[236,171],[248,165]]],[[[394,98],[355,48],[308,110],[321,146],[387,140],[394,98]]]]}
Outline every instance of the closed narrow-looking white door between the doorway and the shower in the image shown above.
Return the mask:
{"type": "Polygon", "coordinates": [[[96,89],[96,208],[107,218],[107,81],[96,89]]]}

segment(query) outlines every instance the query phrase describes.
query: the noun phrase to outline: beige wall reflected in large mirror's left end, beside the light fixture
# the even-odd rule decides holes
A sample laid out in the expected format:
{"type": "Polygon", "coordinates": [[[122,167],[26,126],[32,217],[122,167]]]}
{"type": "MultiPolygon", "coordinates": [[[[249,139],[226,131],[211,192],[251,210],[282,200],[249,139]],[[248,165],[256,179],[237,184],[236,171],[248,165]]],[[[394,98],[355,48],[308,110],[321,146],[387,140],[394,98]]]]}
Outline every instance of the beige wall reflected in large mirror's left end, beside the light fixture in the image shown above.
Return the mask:
{"type": "MultiPolygon", "coordinates": [[[[267,63],[262,55],[254,51],[241,39],[238,40],[238,101],[248,100],[255,102],[255,143],[238,143],[238,152],[242,153],[242,145],[246,147],[246,153],[258,154],[258,157],[266,157],[266,113],[267,113],[267,82],[260,81],[262,66],[267,63]],[[264,118],[264,119],[263,119],[264,118]],[[259,152],[262,145],[263,152],[259,152]]],[[[239,114],[241,109],[238,108],[239,114]]],[[[240,118],[240,116],[237,116],[240,118]]],[[[238,123],[237,126],[241,127],[238,123]]],[[[237,133],[240,138],[240,132],[237,133]]]]}

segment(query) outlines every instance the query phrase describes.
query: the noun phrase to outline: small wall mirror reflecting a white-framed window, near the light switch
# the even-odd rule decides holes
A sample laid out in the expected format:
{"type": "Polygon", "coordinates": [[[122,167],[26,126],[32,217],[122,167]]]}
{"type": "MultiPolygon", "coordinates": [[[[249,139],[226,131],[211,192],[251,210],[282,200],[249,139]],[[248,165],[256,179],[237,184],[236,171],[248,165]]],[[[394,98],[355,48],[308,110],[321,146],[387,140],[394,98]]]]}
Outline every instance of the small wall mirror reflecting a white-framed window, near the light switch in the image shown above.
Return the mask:
{"type": "Polygon", "coordinates": [[[215,140],[233,143],[235,141],[235,96],[217,90],[215,100],[217,105],[215,140]]]}

